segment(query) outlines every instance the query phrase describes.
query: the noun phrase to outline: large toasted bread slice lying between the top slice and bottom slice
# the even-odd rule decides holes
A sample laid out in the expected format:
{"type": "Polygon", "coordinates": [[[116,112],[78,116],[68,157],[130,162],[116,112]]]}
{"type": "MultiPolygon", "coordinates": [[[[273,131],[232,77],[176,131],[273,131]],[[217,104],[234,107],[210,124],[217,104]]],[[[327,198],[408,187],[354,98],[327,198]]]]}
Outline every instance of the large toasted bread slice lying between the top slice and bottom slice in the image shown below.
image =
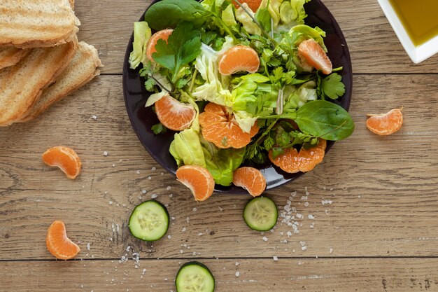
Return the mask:
{"type": "Polygon", "coordinates": [[[18,64],[0,70],[0,126],[20,119],[43,90],[64,71],[76,53],[73,41],[52,48],[34,48],[18,64]]]}

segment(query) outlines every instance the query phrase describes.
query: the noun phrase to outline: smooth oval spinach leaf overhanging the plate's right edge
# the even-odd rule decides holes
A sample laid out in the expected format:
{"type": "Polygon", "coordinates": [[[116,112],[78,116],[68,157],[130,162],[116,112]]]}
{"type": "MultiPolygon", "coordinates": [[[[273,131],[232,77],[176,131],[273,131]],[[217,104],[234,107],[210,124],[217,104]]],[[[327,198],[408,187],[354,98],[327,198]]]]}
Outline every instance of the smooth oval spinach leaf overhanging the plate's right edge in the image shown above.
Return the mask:
{"type": "Polygon", "coordinates": [[[304,134],[330,141],[349,137],[354,123],[348,112],[337,104],[325,100],[307,102],[296,113],[295,123],[304,134]]]}

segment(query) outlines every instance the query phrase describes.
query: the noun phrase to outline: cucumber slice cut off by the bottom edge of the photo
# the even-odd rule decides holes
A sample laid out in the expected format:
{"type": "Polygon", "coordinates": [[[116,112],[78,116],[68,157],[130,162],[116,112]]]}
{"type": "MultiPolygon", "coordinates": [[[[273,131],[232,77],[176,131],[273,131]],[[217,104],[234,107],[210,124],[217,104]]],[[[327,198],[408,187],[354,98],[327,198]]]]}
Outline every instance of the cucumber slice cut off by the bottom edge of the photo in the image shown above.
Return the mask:
{"type": "Polygon", "coordinates": [[[176,274],[176,292],[213,292],[214,278],[208,267],[198,262],[185,263],[176,274]]]}

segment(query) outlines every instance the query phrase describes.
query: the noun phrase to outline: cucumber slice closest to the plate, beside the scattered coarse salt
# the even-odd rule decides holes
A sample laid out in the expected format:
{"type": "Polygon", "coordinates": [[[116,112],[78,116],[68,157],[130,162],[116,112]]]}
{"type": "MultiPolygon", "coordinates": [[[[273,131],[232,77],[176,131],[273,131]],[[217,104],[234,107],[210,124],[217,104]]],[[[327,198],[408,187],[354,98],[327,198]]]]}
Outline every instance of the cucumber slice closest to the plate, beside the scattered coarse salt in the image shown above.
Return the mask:
{"type": "Polygon", "coordinates": [[[255,197],[243,209],[243,219],[249,228],[269,231],[277,223],[278,209],[269,197],[255,197]]]}

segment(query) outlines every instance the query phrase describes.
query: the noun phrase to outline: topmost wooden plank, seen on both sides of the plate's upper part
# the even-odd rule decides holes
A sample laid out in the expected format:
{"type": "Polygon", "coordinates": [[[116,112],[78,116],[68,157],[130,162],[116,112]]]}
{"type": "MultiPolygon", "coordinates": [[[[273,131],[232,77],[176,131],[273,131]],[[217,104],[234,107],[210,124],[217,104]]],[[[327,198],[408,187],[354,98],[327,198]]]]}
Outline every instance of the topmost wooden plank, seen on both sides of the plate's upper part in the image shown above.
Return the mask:
{"type": "MultiPolygon", "coordinates": [[[[103,73],[122,73],[122,63],[133,22],[150,0],[76,0],[79,39],[96,46],[106,67],[103,73]]],[[[355,73],[438,73],[438,56],[415,65],[402,48],[377,1],[324,0],[337,18],[351,50],[355,73]]]]}

